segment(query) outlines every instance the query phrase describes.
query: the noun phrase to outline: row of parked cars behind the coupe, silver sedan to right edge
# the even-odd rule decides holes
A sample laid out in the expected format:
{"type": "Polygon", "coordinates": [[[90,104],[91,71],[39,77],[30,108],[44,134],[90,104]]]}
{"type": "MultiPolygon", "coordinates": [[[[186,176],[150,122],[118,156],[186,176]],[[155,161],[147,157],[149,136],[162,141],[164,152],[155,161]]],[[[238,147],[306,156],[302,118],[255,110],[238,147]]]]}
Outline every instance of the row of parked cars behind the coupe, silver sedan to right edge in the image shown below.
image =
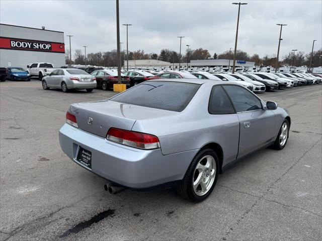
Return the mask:
{"type": "MultiPolygon", "coordinates": [[[[213,79],[234,81],[253,92],[265,92],[286,87],[321,83],[322,74],[307,73],[265,73],[265,72],[188,72],[169,71],[159,74],[144,70],[125,70],[121,75],[122,84],[132,87],[151,79],[213,79]]],[[[61,88],[64,92],[70,89],[93,88],[108,90],[118,82],[116,69],[97,69],[91,74],[82,69],[56,69],[42,79],[44,89],[61,88]]]]}

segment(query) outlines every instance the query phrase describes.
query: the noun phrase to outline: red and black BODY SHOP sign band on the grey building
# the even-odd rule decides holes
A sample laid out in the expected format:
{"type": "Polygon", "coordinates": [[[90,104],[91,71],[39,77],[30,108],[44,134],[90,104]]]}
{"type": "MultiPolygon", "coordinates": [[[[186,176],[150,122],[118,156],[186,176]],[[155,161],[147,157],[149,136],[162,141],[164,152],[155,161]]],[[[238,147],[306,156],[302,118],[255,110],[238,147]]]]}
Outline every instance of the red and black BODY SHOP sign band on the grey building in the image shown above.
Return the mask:
{"type": "Polygon", "coordinates": [[[65,53],[64,43],[0,37],[0,49],[65,53]]]}

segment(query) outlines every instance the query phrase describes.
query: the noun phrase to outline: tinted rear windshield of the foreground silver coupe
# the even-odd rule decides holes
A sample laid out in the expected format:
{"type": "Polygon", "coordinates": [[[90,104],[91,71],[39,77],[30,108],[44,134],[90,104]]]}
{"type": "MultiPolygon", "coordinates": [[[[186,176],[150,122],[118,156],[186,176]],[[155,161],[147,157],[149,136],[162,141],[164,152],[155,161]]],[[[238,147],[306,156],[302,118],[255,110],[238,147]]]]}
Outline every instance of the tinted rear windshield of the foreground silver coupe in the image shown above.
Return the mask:
{"type": "Polygon", "coordinates": [[[199,87],[199,84],[184,82],[145,81],[110,100],[180,112],[186,108],[199,87]]]}

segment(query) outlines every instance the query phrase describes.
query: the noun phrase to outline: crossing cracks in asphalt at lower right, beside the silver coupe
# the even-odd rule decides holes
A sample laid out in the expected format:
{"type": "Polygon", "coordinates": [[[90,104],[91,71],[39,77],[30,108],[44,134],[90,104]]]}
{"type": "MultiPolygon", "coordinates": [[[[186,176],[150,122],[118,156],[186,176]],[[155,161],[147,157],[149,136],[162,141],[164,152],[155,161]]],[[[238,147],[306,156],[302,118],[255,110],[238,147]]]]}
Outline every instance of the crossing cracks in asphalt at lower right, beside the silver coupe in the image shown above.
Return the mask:
{"type": "MultiPolygon", "coordinates": [[[[251,206],[251,207],[249,207],[243,214],[241,214],[241,216],[240,216],[240,218],[238,218],[236,221],[235,221],[235,223],[233,224],[233,225],[231,225],[229,228],[228,228],[228,231],[226,231],[226,233],[223,235],[223,237],[222,237],[222,240],[226,240],[227,239],[227,237],[229,236],[229,234],[231,233],[231,231],[233,230],[233,228],[235,227],[235,226],[237,226],[243,219],[244,219],[244,217],[248,214],[248,213],[250,213],[252,210],[253,210],[253,208],[258,204],[258,202],[259,201],[261,201],[262,199],[263,200],[266,200],[264,197],[269,193],[269,191],[275,186],[275,184],[277,184],[297,163],[299,163],[299,161],[300,160],[302,160],[302,158],[308,153],[308,152],[310,152],[317,144],[319,144],[319,142],[322,140],[322,138],[321,139],[319,139],[317,142],[315,142],[315,144],[314,145],[312,145],[307,151],[305,151],[303,154],[302,154],[302,156],[300,156],[298,159],[297,159],[297,161],[296,162],[294,162],[289,168],[287,168],[286,169],[286,171],[280,176],[280,177],[278,177],[274,182],[272,182],[269,186],[268,186],[268,188],[266,189],[266,191],[261,195],[261,196],[256,196],[256,195],[252,195],[252,194],[249,194],[249,193],[245,193],[245,194],[249,194],[249,195],[252,195],[252,196],[254,196],[254,197],[257,197],[257,200],[253,203],[253,205],[251,206]]],[[[237,190],[235,190],[235,191],[237,191],[237,190]]],[[[269,200],[268,200],[269,201],[269,200]]],[[[271,201],[273,201],[273,200],[271,200],[271,201]]],[[[281,203],[280,203],[281,204],[281,203]]],[[[300,209],[302,209],[302,208],[300,208],[300,209]]],[[[303,210],[305,210],[305,209],[303,209],[303,210]]],[[[307,210],[305,210],[305,211],[307,211],[307,210]]],[[[307,211],[307,212],[310,212],[310,211],[307,211]]],[[[318,215],[318,214],[316,214],[316,213],[314,213],[315,215],[318,215]]],[[[318,216],[320,216],[320,215],[318,215],[318,216]]]]}

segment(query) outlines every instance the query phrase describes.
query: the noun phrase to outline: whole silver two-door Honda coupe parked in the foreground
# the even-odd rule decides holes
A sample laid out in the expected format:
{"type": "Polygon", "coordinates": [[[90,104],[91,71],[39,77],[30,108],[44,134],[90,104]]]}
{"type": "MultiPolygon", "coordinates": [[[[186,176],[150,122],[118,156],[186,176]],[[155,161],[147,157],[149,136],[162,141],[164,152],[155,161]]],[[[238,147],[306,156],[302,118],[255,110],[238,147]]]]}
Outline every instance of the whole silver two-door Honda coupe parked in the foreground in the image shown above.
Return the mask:
{"type": "Polygon", "coordinates": [[[59,142],[71,160],[113,185],[176,187],[198,202],[234,161],[283,149],[290,125],[287,110],[233,82],[160,79],[71,104],[59,142]]]}

